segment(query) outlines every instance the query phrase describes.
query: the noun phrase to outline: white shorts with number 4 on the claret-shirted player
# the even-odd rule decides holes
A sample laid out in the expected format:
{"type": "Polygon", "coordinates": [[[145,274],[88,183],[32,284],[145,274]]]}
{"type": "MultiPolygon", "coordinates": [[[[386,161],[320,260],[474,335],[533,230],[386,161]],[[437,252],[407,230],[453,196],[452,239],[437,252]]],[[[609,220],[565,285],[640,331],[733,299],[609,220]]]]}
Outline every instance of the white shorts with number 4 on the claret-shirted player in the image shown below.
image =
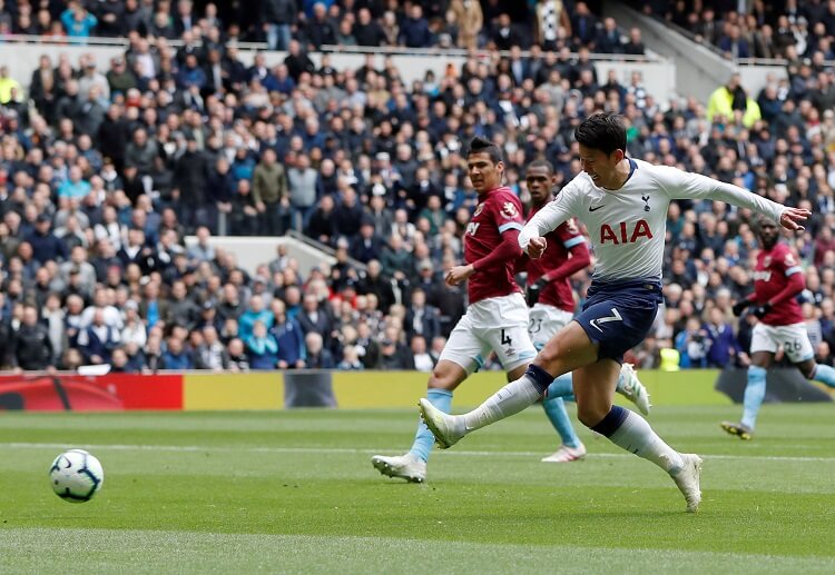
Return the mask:
{"type": "Polygon", "coordinates": [[[529,364],[537,349],[528,335],[528,306],[521,294],[491,297],[468,306],[441,351],[468,375],[478,370],[495,351],[505,371],[529,364]]]}

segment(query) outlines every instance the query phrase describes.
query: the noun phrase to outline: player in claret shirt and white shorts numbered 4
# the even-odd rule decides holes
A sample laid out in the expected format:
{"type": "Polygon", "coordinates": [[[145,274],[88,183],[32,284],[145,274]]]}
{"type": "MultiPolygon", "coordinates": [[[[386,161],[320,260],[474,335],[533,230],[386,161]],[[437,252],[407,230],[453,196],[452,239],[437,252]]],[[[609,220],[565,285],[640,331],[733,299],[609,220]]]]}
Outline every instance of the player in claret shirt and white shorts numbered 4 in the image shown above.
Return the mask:
{"type": "MultiPolygon", "coordinates": [[[[464,234],[465,265],[450,269],[445,280],[454,286],[469,279],[470,301],[429,378],[428,401],[439,413],[450,410],[452,391],[484,363],[491,350],[509,380],[524,375],[537,355],[528,335],[528,306],[513,277],[522,255],[522,205],[510,188],[502,187],[504,163],[498,146],[473,138],[466,165],[479,205],[464,234]]],[[[394,457],[375,455],[371,463],[383,475],[424,482],[433,442],[432,433],[419,423],[409,453],[394,457]]]]}

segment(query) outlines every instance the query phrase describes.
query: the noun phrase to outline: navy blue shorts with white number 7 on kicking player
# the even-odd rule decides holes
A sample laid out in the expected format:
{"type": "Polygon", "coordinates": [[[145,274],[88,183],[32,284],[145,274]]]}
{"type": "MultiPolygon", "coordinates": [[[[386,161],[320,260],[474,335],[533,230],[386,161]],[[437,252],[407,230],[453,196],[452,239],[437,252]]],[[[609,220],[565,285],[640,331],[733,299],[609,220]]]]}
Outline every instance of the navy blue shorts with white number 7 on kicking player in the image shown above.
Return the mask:
{"type": "Polygon", "coordinates": [[[582,313],[574,320],[598,344],[598,359],[608,357],[622,364],[623,354],[647,337],[661,301],[657,279],[592,281],[582,313]]]}

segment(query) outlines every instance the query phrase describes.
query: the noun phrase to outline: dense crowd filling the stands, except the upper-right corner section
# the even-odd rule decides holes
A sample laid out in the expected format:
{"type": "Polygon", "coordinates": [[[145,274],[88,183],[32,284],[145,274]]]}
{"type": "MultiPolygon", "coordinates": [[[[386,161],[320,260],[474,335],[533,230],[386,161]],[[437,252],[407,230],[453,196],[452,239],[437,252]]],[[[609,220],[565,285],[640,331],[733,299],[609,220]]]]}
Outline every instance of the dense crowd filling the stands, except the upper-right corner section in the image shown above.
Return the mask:
{"type": "MultiPolygon", "coordinates": [[[[19,32],[27,11],[46,23],[53,4],[6,2],[0,30],[19,32]]],[[[550,160],[561,182],[578,174],[572,130],[597,110],[625,115],[636,157],[815,212],[790,241],[805,265],[818,360],[833,363],[833,70],[789,67],[788,80],[757,95],[731,79],[710,102],[660,102],[637,72],[603,65],[598,76],[590,50],[644,48],[639,31],[619,31],[583,2],[540,2],[512,20],[494,1],[298,2],[289,29],[272,28],[287,22],[265,11],[291,4],[263,2],[255,22],[238,26],[223,24],[229,16],[210,3],[198,16],[188,0],[96,2],[89,12],[71,2],[72,18],[58,18],[65,34],[125,33],[106,26],[107,10],[124,11],[117,22],[145,10],[150,24],[131,24],[128,49],[109,62],[45,56],[28,79],[0,67],[2,364],[429,370],[465,307],[465,291],[442,278],[462,259],[477,204],[469,139],[500,143],[508,186],[528,201],[527,163],[550,160]],[[462,24],[444,39],[438,18],[449,23],[461,7],[479,7],[483,32],[462,24]],[[326,27],[306,22],[320,17],[355,40],[370,17],[381,44],[404,46],[403,28],[423,18],[434,22],[426,46],[488,48],[487,57],[472,52],[409,86],[390,58],[337,70],[324,54],[314,66],[311,30],[326,27]],[[385,30],[391,18],[397,34],[385,30]],[[237,40],[258,34],[287,40],[282,63],[267,67],[263,54],[242,63],[237,40]],[[336,265],[303,276],[279,250],[250,274],[208,242],[291,228],[335,249],[336,265]],[[198,241],[186,248],[189,234],[198,241]]],[[[38,33],[58,34],[50,22],[38,33]]],[[[730,307],[750,290],[750,214],[681,201],[667,234],[666,308],[631,360],[656,366],[660,349],[677,348],[682,367],[745,364],[754,319],[737,324],[730,307]]],[[[589,275],[573,279],[579,303],[589,275]]]]}

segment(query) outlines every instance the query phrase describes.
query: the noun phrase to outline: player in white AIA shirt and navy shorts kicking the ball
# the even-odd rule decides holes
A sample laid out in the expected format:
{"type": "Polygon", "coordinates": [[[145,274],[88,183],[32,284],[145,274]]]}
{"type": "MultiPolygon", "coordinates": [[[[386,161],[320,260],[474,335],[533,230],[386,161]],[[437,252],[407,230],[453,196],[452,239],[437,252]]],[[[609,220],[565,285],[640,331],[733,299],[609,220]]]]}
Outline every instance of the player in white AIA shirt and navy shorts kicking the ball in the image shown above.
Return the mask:
{"type": "Polygon", "coordinates": [[[583,311],[537,355],[523,377],[479,407],[452,416],[420,400],[423,420],[438,445],[448,448],[468,433],[533,404],[556,376],[573,371],[579,419],[623,449],[649,459],[674,479],[688,512],[701,502],[701,458],[668,446],[640,415],[612,405],[623,353],[650,329],[661,301],[661,268],[667,208],[675,199],[713,199],[749,208],[790,230],[808,210],[787,208],[743,188],[626,157],[620,116],[596,113],[578,126],[582,172],[541,209],[519,235],[532,258],[542,238],[570,217],[584,224],[597,265],[583,311]]]}

